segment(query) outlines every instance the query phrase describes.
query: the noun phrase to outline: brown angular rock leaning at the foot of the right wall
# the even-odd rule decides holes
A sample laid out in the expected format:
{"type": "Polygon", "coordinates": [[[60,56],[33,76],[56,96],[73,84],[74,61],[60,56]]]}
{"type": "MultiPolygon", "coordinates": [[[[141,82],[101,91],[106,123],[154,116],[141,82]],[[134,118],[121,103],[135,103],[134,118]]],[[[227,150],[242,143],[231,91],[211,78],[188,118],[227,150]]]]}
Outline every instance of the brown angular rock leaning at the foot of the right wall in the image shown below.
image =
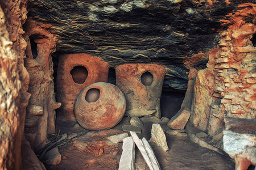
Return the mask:
{"type": "Polygon", "coordinates": [[[189,117],[190,112],[187,111],[187,108],[183,108],[183,110],[180,109],[180,111],[171,118],[167,125],[172,129],[184,129],[189,117]]]}

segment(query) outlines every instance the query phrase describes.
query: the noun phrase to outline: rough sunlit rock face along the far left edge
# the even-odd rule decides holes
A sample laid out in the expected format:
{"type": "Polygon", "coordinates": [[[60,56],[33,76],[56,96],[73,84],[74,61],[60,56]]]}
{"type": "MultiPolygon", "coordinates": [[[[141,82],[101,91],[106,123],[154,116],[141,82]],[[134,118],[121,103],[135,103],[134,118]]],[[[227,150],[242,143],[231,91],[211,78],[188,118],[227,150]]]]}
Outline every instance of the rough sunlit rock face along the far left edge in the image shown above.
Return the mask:
{"type": "Polygon", "coordinates": [[[22,24],[26,1],[0,1],[0,169],[21,168],[21,141],[29,75],[24,68],[22,24]]]}

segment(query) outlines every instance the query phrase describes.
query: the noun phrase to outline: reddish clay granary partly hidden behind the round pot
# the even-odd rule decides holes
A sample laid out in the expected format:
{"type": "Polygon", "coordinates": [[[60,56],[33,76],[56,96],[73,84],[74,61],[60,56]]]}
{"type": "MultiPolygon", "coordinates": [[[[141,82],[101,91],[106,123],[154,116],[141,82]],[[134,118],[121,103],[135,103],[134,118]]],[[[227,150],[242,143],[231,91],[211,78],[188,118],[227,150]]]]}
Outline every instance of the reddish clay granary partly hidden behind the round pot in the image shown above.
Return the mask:
{"type": "Polygon", "coordinates": [[[74,104],[81,90],[96,82],[108,81],[109,65],[89,54],[64,54],[57,71],[57,121],[76,121],[74,104]]]}

